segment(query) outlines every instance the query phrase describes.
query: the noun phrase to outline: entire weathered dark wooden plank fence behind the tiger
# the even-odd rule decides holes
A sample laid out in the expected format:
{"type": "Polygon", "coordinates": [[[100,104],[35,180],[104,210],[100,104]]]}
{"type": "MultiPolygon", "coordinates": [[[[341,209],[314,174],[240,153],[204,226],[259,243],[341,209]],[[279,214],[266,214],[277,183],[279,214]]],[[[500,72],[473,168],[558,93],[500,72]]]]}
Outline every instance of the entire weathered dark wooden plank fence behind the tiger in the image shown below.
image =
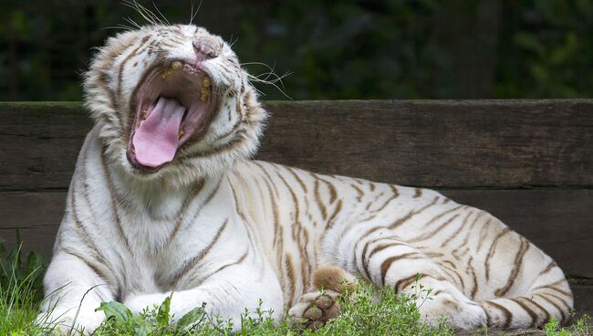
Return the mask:
{"type": "MultiPolygon", "coordinates": [[[[593,312],[593,100],[268,102],[257,157],[429,187],[487,210],[554,257],[593,312]]],[[[0,236],[47,256],[78,150],[78,102],[0,103],[0,236]]]]}

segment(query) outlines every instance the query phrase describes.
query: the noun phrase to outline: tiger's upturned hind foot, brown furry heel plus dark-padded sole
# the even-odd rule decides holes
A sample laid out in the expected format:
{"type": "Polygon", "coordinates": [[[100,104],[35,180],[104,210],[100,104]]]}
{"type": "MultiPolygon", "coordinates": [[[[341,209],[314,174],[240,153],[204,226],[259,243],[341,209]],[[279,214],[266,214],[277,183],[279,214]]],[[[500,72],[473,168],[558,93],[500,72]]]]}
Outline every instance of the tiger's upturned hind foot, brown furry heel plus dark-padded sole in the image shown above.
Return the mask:
{"type": "Polygon", "coordinates": [[[342,268],[328,266],[313,273],[314,289],[303,294],[288,310],[295,324],[316,330],[339,314],[338,296],[352,293],[356,279],[342,268]]]}

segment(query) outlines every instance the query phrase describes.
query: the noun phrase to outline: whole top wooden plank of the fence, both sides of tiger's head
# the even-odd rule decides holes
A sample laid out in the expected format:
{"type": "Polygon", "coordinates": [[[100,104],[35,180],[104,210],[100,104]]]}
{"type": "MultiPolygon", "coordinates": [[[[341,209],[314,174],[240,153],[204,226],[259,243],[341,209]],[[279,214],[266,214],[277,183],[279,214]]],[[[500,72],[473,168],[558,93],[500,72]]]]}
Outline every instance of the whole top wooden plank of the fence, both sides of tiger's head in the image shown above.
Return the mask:
{"type": "MultiPolygon", "coordinates": [[[[593,186],[593,100],[270,101],[258,158],[426,187],[593,186]]],[[[77,103],[0,103],[0,190],[66,188],[77,103]]]]}

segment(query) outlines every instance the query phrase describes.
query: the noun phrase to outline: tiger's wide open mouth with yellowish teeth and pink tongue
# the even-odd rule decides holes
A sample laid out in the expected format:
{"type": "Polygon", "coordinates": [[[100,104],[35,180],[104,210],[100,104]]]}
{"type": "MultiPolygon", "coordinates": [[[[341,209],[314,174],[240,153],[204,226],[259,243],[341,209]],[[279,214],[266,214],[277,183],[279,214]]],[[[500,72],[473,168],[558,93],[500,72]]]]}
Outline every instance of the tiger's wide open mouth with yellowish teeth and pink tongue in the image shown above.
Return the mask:
{"type": "Polygon", "coordinates": [[[212,82],[205,68],[182,60],[148,71],[132,100],[127,156],[134,167],[156,171],[203,136],[213,114],[212,82]]]}

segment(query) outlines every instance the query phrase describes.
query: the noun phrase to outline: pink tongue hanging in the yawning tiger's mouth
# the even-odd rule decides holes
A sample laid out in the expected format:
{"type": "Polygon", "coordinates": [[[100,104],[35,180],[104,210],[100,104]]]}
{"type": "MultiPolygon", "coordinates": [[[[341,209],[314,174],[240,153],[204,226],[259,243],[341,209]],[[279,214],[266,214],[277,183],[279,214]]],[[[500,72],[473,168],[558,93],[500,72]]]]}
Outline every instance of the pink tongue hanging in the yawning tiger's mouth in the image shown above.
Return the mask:
{"type": "Polygon", "coordinates": [[[183,113],[185,108],[177,100],[159,98],[131,141],[138,163],[155,168],[173,160],[179,144],[183,113]]]}

